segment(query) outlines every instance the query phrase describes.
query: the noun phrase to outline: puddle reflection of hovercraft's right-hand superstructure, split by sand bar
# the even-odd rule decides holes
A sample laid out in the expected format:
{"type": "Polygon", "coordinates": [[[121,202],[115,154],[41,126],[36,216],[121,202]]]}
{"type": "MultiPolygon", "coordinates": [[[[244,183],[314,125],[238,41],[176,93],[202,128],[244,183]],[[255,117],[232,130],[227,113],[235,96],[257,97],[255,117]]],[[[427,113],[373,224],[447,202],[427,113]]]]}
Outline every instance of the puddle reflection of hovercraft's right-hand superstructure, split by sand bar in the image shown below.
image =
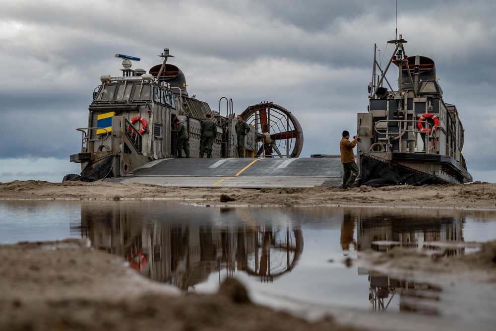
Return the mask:
{"type": "MultiPolygon", "coordinates": [[[[353,216],[351,216],[353,218],[353,216]]],[[[363,209],[356,215],[359,250],[388,252],[393,247],[413,247],[433,259],[457,256],[465,248],[462,228],[465,213],[443,209],[412,209],[397,211],[363,209]],[[450,245],[446,245],[450,243],[450,245]]],[[[360,257],[359,257],[360,258],[360,257]]],[[[411,266],[414,267],[413,265],[411,266]]],[[[369,300],[373,310],[388,308],[395,295],[399,296],[399,310],[426,315],[438,315],[440,286],[407,279],[398,279],[374,271],[358,269],[368,274],[369,300]]]]}

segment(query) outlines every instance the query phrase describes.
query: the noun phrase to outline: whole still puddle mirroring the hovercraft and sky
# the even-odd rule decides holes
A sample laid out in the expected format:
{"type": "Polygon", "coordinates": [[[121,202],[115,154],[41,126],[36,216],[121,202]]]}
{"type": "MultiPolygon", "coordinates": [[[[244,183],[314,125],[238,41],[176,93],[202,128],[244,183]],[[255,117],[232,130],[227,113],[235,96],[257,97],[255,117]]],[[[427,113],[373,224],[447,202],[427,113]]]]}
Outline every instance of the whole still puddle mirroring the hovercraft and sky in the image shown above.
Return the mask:
{"type": "Polygon", "coordinates": [[[496,321],[496,293],[488,296],[486,285],[429,284],[346,264],[365,249],[395,246],[442,259],[467,254],[476,246],[466,243],[496,239],[494,211],[4,200],[0,214],[0,244],[89,238],[143,275],[187,291],[213,292],[236,276],[255,301],[273,306],[496,321]]]}

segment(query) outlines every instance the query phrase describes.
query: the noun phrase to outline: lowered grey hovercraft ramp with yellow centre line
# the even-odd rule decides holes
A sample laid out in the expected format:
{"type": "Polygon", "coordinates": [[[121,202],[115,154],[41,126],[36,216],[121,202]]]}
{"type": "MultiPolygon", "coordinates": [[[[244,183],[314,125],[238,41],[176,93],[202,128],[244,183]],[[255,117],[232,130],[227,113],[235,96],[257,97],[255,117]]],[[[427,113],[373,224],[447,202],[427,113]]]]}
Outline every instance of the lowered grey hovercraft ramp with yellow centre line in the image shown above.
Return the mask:
{"type": "Polygon", "coordinates": [[[129,176],[108,182],[184,188],[308,188],[339,187],[341,158],[176,158],[151,161],[129,176]]]}

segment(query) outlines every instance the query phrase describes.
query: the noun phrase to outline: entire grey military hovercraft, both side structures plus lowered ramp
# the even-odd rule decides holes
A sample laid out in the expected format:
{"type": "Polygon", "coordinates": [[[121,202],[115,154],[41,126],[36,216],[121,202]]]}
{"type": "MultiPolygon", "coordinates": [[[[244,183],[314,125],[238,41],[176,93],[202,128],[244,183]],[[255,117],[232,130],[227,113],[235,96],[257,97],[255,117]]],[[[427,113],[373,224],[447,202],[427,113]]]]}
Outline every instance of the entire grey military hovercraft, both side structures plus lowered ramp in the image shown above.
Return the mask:
{"type": "MultiPolygon", "coordinates": [[[[442,99],[434,61],[408,57],[401,37],[389,41],[396,48],[382,70],[374,55],[367,113],[358,114],[358,185],[423,185],[472,181],[461,153],[464,130],[454,105],[442,99]],[[389,66],[399,68],[398,90],[386,78],[389,66]],[[389,90],[388,90],[389,88],[389,90]]],[[[106,179],[183,187],[339,187],[342,165],[338,155],[299,158],[303,130],[282,106],[260,102],[241,113],[252,127],[244,156],[237,158],[236,116],[232,99],[219,99],[219,111],[195,96],[189,97],[186,78],[177,66],[163,64],[148,73],[130,69],[126,55],[123,75],[103,75],[89,106],[88,128],[81,152],[70,156],[81,174],[65,180],[106,179]],[[225,100],[226,115],[221,115],[225,100]],[[217,124],[212,159],[177,159],[174,120],[186,124],[192,158],[199,156],[200,125],[210,114],[217,124]],[[327,156],[327,157],[324,157],[327,156]],[[329,157],[330,156],[330,157],[329,157]],[[220,159],[220,160],[219,160],[220,159]],[[168,161],[168,162],[164,162],[168,161]],[[178,163],[179,162],[179,163],[178,163]]]]}

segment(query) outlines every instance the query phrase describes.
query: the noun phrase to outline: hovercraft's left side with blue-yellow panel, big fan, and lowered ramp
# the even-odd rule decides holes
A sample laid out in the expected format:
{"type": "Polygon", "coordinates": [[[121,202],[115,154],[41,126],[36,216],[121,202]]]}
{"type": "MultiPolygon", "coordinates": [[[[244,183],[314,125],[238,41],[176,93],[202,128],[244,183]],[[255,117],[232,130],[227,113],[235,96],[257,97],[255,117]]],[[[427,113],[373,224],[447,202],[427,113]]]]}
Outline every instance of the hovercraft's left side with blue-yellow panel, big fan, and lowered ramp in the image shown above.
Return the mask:
{"type": "Polygon", "coordinates": [[[245,138],[244,158],[237,158],[232,99],[220,98],[219,111],[212,111],[195,95],[189,97],[185,74],[167,63],[173,57],[169,50],[160,57],[163,63],[147,73],[131,69],[131,61],[139,58],[116,54],[124,59],[122,76],[100,77],[89,105],[88,127],[77,129],[82,134],[81,151],[70,155],[71,162],[81,164],[81,174],[66,175],[64,181],[249,188],[338,185],[341,169],[329,167],[336,160],[299,158],[300,123],[273,102],[249,106],[240,114],[252,130],[245,138]],[[200,160],[200,126],[207,114],[217,124],[217,136],[212,158],[200,160]],[[176,118],[188,131],[189,159],[177,155],[177,137],[171,134],[176,118]]]}

